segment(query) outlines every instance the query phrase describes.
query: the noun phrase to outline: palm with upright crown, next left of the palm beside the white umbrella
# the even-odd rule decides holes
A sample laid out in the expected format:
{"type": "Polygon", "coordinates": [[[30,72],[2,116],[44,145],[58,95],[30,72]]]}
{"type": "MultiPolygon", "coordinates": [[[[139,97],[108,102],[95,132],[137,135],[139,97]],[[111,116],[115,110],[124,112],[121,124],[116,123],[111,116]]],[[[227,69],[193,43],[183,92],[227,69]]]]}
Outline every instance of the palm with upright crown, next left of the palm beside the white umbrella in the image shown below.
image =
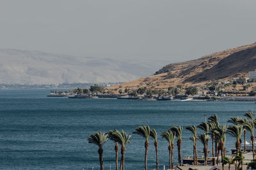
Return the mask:
{"type": "Polygon", "coordinates": [[[217,162],[219,160],[219,150],[221,151],[221,159],[225,156],[225,141],[226,141],[226,132],[227,132],[227,125],[220,125],[216,127],[214,134],[219,142],[218,146],[218,153],[217,153],[217,162]]]}

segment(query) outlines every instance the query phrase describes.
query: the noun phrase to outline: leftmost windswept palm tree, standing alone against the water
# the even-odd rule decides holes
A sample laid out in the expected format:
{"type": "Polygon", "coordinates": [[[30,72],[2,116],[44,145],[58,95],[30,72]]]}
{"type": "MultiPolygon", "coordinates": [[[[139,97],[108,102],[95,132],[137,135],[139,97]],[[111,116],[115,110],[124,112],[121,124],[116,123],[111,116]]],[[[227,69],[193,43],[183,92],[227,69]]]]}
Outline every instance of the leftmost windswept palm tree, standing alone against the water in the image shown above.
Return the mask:
{"type": "Polygon", "coordinates": [[[102,132],[97,132],[95,134],[91,134],[90,137],[88,138],[89,143],[93,143],[97,146],[99,146],[99,159],[100,159],[100,170],[103,170],[103,157],[102,157],[102,153],[103,153],[103,148],[102,146],[104,145],[104,143],[106,143],[106,141],[108,141],[108,134],[102,133],[102,132]]]}

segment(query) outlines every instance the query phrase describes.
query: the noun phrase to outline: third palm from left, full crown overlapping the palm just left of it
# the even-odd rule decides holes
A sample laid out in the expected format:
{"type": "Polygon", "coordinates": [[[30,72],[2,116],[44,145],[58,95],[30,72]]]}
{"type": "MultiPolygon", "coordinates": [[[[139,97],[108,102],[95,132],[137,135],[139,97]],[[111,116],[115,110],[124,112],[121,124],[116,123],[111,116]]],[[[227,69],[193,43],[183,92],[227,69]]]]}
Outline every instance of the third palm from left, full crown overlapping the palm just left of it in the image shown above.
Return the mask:
{"type": "Polygon", "coordinates": [[[122,145],[121,147],[121,161],[120,161],[120,170],[123,169],[124,170],[124,154],[125,154],[125,145],[127,145],[128,143],[130,143],[130,138],[131,135],[127,135],[127,133],[125,133],[123,130],[122,132],[114,130],[111,131],[111,138],[114,138],[114,141],[117,141],[120,145],[122,145]]]}

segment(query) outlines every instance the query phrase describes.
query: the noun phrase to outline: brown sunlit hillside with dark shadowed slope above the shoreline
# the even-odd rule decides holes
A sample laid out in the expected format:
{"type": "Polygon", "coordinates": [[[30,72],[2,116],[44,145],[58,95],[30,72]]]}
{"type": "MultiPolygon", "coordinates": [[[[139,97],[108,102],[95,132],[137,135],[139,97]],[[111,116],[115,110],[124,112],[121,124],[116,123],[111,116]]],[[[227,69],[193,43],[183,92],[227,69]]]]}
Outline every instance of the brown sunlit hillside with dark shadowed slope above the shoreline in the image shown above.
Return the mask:
{"type": "Polygon", "coordinates": [[[209,80],[227,80],[256,69],[256,43],[205,55],[200,59],[168,64],[153,76],[108,87],[108,90],[166,89],[176,85],[200,85],[209,80]]]}

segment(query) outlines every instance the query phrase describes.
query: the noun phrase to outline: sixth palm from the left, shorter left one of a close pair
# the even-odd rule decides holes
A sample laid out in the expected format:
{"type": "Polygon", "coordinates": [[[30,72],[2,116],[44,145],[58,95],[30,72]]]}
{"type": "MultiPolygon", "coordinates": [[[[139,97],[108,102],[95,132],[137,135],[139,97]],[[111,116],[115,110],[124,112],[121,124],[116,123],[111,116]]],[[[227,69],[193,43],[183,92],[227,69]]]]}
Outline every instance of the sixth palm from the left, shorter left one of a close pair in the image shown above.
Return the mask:
{"type": "Polygon", "coordinates": [[[161,136],[165,138],[169,143],[169,146],[168,146],[169,157],[170,157],[169,166],[170,166],[170,169],[173,169],[173,147],[174,147],[173,141],[175,139],[175,134],[173,134],[172,131],[168,130],[166,132],[161,133],[161,136]]]}

